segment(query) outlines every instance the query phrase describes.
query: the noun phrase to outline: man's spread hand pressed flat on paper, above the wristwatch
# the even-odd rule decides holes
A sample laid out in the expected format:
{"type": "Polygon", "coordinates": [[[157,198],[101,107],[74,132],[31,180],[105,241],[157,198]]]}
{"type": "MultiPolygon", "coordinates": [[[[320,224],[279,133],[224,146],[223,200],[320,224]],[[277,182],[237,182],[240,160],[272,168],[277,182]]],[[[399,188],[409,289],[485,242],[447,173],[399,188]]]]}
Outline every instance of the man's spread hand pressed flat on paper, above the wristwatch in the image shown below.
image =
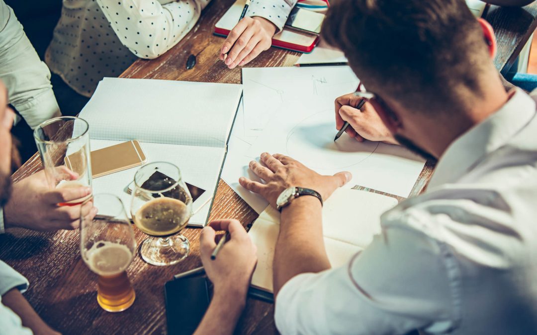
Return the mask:
{"type": "Polygon", "coordinates": [[[302,163],[282,154],[271,155],[262,153],[259,162],[251,161],[250,169],[265,181],[265,184],[239,178],[239,183],[245,189],[259,193],[273,207],[282,191],[289,187],[313,189],[326,200],[338,187],[351,180],[350,172],[338,172],[333,176],[323,176],[304,166],[302,163]]]}

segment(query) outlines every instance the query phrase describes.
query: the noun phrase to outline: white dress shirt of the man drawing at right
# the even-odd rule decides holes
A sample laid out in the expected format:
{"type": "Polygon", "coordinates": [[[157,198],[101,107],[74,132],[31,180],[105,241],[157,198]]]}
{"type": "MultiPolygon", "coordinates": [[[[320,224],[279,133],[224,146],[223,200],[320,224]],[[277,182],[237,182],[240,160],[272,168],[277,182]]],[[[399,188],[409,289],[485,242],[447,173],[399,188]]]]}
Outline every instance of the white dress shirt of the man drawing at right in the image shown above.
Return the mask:
{"type": "Polygon", "coordinates": [[[423,195],[382,215],[368,248],[282,287],[282,334],[535,332],[536,105],[511,94],[448,147],[423,195]]]}

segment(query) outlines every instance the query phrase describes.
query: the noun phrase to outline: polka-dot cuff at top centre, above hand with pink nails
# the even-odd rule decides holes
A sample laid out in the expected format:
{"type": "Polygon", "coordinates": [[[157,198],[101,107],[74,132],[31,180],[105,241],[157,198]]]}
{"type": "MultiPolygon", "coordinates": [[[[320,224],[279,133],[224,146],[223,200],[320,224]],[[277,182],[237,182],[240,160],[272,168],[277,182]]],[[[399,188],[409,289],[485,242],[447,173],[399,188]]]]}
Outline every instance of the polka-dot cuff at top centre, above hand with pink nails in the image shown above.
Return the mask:
{"type": "Polygon", "coordinates": [[[271,21],[279,33],[284,28],[287,17],[298,0],[255,0],[252,1],[246,16],[262,17],[271,21]]]}

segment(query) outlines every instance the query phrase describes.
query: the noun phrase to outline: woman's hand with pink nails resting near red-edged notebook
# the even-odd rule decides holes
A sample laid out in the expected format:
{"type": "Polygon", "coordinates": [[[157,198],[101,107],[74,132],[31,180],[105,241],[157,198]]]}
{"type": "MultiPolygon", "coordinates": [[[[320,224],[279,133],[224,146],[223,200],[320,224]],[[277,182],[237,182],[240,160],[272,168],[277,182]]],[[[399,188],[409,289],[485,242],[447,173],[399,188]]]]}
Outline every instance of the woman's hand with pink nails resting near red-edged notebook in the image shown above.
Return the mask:
{"type": "Polygon", "coordinates": [[[262,17],[245,17],[231,30],[222,44],[220,60],[224,61],[229,69],[248,64],[262,51],[270,48],[275,32],[276,26],[271,21],[262,17]]]}

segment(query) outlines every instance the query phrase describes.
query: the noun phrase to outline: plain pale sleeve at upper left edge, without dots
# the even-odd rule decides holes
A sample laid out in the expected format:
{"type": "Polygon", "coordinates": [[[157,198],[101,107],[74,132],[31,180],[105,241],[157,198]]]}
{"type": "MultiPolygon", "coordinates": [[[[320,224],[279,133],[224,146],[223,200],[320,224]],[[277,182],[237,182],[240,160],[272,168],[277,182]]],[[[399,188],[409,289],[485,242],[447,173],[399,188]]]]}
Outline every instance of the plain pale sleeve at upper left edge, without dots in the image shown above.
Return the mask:
{"type": "Polygon", "coordinates": [[[33,129],[61,115],[50,71],[4,1],[0,2],[0,21],[0,79],[8,88],[9,102],[33,129]]]}

